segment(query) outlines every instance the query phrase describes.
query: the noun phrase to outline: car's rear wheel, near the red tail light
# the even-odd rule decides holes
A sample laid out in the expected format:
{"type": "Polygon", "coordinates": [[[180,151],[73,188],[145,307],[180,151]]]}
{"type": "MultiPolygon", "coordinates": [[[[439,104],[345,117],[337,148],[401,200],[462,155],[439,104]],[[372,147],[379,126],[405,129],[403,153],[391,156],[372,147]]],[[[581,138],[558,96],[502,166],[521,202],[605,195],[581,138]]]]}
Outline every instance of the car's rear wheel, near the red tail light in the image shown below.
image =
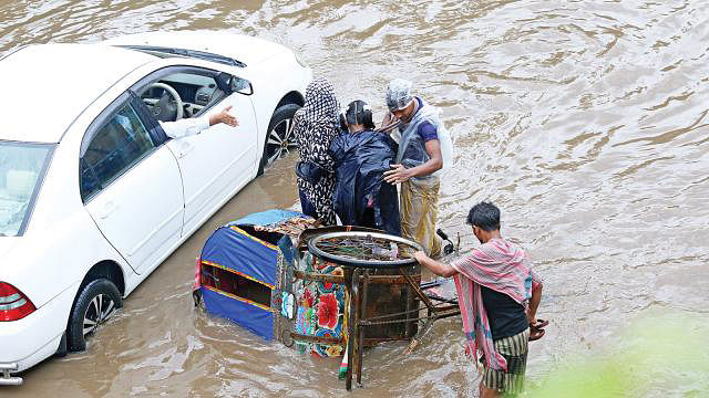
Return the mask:
{"type": "Polygon", "coordinates": [[[86,337],[123,305],[121,293],[106,279],[92,281],[79,293],[69,317],[69,349],[86,349],[86,337]]]}

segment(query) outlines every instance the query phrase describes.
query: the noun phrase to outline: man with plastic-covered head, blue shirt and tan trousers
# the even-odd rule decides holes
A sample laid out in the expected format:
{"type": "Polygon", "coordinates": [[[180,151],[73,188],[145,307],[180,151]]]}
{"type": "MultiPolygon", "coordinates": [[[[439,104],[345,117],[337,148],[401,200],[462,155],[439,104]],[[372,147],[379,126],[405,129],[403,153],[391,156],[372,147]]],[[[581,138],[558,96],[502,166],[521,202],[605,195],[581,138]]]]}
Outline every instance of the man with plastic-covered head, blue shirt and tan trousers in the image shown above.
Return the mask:
{"type": "Polygon", "coordinates": [[[401,235],[423,245],[431,256],[439,256],[439,170],[452,163],[453,144],[438,109],[411,95],[411,82],[395,78],[387,87],[390,113],[382,129],[399,123],[401,138],[397,164],[384,172],[384,180],[401,184],[401,235]]]}

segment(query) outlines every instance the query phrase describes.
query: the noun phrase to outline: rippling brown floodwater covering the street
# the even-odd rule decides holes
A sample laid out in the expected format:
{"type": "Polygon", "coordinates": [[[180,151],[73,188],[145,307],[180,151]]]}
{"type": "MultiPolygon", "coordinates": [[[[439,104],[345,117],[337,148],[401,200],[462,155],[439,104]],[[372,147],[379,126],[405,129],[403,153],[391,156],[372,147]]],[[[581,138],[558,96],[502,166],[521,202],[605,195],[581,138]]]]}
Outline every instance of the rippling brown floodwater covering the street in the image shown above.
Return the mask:
{"type": "MultiPolygon", "coordinates": [[[[709,317],[709,8],[705,1],[32,1],[0,2],[0,53],[147,30],[214,29],[279,41],[379,121],[407,76],[442,109],[456,147],[441,226],[480,200],[545,280],[531,345],[534,385],[564,358],[623,347],[629,322],[709,317]],[[28,6],[29,4],[29,6],[28,6]],[[238,7],[238,8],[235,8],[238,7]]],[[[51,67],[51,60],[48,60],[51,67]]],[[[4,93],[9,95],[9,93],[4,93]]],[[[41,95],[41,93],[38,93],[41,95]]],[[[27,106],[28,104],[18,104],[27,106]]],[[[40,111],[41,112],[41,111],[40,111]]],[[[6,109],[6,117],[11,115],[6,109]]],[[[238,139],[238,138],[235,138],[238,139]]],[[[169,256],[89,343],[24,374],[18,397],[330,396],[339,362],[265,343],[193,308],[194,263],[218,226],[297,200],[295,156],[257,178],[169,256]]],[[[466,249],[467,250],[467,249],[466,249]]],[[[681,339],[681,336],[678,336],[681,339]]],[[[421,347],[366,355],[352,396],[473,396],[459,320],[421,347]]],[[[700,347],[707,352],[707,346],[700,347]]],[[[708,375],[655,369],[650,396],[701,396],[708,375]]]]}

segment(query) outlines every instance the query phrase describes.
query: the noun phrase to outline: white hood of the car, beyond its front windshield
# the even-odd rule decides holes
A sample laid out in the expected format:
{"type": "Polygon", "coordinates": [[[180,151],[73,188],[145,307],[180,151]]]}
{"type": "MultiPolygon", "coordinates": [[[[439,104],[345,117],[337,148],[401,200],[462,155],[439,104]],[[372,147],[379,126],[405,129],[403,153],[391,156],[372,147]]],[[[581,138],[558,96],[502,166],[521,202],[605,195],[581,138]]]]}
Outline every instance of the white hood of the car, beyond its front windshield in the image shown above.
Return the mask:
{"type": "Polygon", "coordinates": [[[109,45],[154,45],[205,51],[254,66],[279,53],[290,52],[281,44],[242,34],[215,31],[137,33],[110,39],[109,45]]]}

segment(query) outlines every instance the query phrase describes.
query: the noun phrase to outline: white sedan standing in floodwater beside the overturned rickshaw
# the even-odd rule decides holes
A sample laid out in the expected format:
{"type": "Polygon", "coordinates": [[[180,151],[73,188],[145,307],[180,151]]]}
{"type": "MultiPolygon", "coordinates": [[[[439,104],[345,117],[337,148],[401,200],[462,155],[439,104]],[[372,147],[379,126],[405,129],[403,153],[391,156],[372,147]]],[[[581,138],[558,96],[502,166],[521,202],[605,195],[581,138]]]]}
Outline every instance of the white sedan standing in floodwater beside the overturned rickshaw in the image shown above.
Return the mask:
{"type": "Polygon", "coordinates": [[[217,32],[22,48],[0,61],[0,385],[85,338],[294,145],[309,67],[217,32]],[[169,139],[168,122],[219,124],[169,139]]]}

